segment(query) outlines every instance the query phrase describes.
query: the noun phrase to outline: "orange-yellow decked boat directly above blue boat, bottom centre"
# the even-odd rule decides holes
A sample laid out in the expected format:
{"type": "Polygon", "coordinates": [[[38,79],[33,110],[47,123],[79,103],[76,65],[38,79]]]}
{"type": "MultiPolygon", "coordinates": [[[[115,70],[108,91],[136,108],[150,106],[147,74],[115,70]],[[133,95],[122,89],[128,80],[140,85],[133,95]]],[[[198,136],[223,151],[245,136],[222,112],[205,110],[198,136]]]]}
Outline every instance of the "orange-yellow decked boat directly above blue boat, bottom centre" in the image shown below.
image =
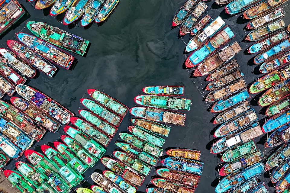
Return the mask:
{"type": "Polygon", "coordinates": [[[199,160],[199,157],[200,157],[200,151],[198,150],[180,149],[180,148],[167,150],[166,154],[169,156],[182,157],[186,159],[196,159],[196,160],[199,160]]]}

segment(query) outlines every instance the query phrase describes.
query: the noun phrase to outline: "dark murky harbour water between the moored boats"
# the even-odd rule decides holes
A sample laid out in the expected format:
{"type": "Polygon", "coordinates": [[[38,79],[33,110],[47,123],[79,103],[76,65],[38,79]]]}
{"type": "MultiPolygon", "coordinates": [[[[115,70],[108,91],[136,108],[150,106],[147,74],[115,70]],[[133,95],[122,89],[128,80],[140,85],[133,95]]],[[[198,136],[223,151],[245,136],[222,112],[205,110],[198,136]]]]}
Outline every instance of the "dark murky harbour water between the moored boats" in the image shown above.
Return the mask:
{"type": "MultiPolygon", "coordinates": [[[[183,54],[184,42],[188,42],[189,36],[179,38],[179,29],[171,29],[172,18],[184,1],[121,0],[105,23],[99,26],[93,24],[85,28],[79,26],[80,20],[77,21],[78,25],[65,26],[56,20],[56,18],[62,20],[64,14],[53,18],[49,16],[50,9],[37,10],[30,2],[23,0],[19,0],[19,2],[25,8],[26,15],[0,37],[1,47],[7,48],[6,40],[16,39],[15,33],[19,31],[31,34],[25,27],[27,21],[47,22],[90,41],[91,45],[85,57],[73,54],[78,60],[73,70],[60,67],[54,78],[40,73],[28,82],[28,85],[41,90],[69,108],[76,113],[76,116],[79,116],[78,110],[83,108],[79,99],[89,98],[89,95],[86,94],[86,90],[89,88],[101,90],[131,108],[135,106],[133,98],[145,86],[184,85],[184,97],[192,100],[191,111],[186,112],[184,127],[171,127],[169,137],[166,137],[163,147],[164,149],[182,147],[200,150],[200,159],[204,162],[204,168],[196,192],[214,192],[214,187],[219,181],[218,165],[221,163],[219,159],[221,155],[213,155],[209,151],[214,143],[212,134],[216,125],[213,125],[212,121],[216,114],[208,111],[211,104],[203,101],[207,94],[203,88],[208,82],[204,81],[205,77],[190,78],[192,69],[185,69],[183,64],[186,57],[183,54]]],[[[242,13],[230,17],[225,13],[224,8],[216,5],[214,1],[207,2],[207,4],[210,16],[212,18],[221,16],[236,35],[229,43],[237,41],[242,47],[243,50],[237,54],[237,61],[241,66],[241,71],[245,74],[246,82],[251,84],[253,80],[262,75],[259,74],[258,67],[253,64],[254,55],[247,53],[247,48],[252,43],[245,42],[244,37],[248,31],[243,31],[243,29],[249,21],[243,20],[240,16],[242,13]]],[[[287,7],[285,7],[286,12],[289,10],[287,7]]],[[[284,20],[288,25],[289,18],[286,16],[284,20]]],[[[258,96],[253,95],[250,103],[257,112],[259,123],[262,125],[266,120],[266,108],[257,105],[258,99],[258,96]]],[[[116,149],[117,146],[114,142],[120,140],[118,135],[120,132],[127,130],[130,118],[132,117],[128,113],[109,144],[106,155],[111,156],[116,149]]],[[[35,143],[32,149],[41,152],[40,145],[59,140],[62,134],[64,134],[63,128],[56,133],[49,132],[40,142],[35,143]]],[[[269,156],[268,152],[271,150],[264,150],[263,146],[268,135],[265,134],[265,136],[255,139],[265,156],[269,156]]],[[[18,160],[27,161],[24,156],[18,160]]],[[[14,169],[14,163],[15,160],[9,162],[5,169],[14,169]]],[[[84,173],[85,182],[80,186],[86,188],[92,185],[91,173],[104,169],[105,167],[99,161],[94,168],[88,169],[84,173]]],[[[152,169],[138,191],[144,192],[146,187],[152,186],[150,180],[151,176],[156,175],[155,170],[155,168],[152,169]]],[[[261,180],[269,185],[268,190],[271,193],[275,191],[269,174],[265,173],[261,180]]]]}

